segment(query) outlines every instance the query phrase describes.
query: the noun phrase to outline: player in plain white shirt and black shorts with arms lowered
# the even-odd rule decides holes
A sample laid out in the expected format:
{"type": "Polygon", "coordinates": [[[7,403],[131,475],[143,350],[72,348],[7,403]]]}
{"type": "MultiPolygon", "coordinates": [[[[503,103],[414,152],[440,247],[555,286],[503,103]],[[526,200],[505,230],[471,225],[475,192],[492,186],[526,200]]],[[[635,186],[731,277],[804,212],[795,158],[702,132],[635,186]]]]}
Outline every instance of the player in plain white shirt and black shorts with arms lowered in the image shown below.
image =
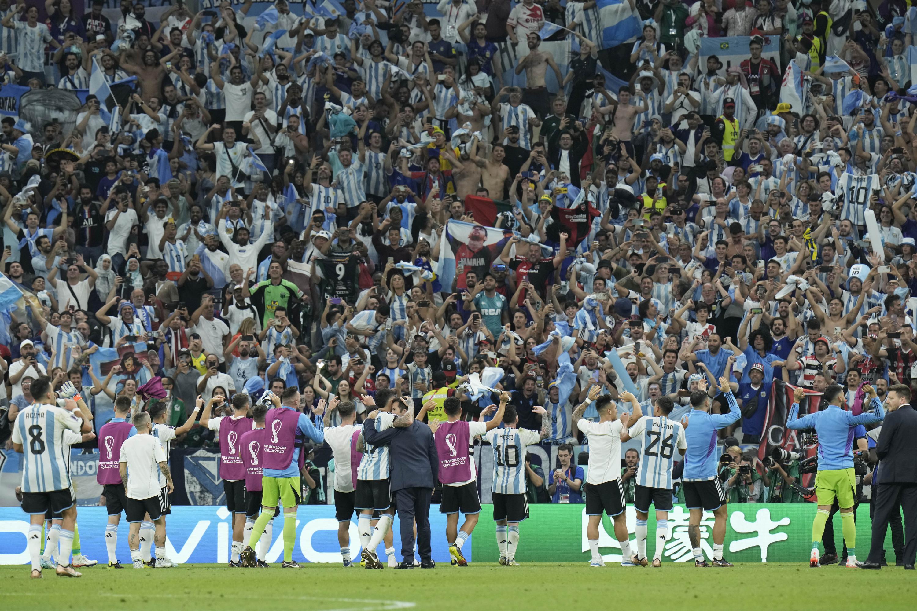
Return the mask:
{"type": "MultiPolygon", "coordinates": [[[[147,566],[140,558],[140,522],[149,516],[156,525],[154,541],[158,554],[156,566],[166,566],[166,518],[163,513],[169,505],[168,495],[175,486],[172,485],[169,464],[166,462],[166,453],[162,450],[160,440],[149,434],[153,427],[149,414],[145,411],[138,412],[133,418],[137,434],[128,437],[121,444],[121,457],[118,470],[121,481],[124,482],[127,495],[127,523],[130,533],[127,542],[130,544],[130,559],[134,562],[135,569],[147,566]],[[166,486],[160,486],[160,473],[165,475],[166,486]]],[[[171,562],[171,561],[170,561],[171,562]]],[[[174,563],[172,563],[173,565],[174,563]]]]}

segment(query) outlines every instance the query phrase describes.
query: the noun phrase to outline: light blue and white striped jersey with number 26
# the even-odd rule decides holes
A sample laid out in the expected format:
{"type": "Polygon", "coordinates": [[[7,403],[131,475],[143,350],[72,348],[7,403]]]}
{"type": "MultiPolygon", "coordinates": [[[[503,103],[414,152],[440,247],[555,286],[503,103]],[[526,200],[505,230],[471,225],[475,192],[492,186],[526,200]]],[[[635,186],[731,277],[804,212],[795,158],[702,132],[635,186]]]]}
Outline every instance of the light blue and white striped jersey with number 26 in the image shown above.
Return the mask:
{"type": "Polygon", "coordinates": [[[637,485],[670,489],[675,450],[688,448],[681,424],[665,416],[644,416],[634,423],[629,433],[634,439],[643,437],[636,470],[637,485]]]}

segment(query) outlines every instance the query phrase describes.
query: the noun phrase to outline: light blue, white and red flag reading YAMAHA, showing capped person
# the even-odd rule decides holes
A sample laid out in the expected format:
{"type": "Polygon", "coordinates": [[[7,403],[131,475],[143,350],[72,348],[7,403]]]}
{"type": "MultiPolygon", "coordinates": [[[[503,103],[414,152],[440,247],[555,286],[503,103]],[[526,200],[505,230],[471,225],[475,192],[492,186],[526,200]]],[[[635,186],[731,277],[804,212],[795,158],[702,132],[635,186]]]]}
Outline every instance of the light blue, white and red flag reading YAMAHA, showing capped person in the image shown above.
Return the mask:
{"type": "Polygon", "coordinates": [[[512,235],[503,229],[448,221],[440,237],[438,267],[434,270],[443,288],[451,290],[455,280],[457,289],[466,289],[465,276],[470,271],[481,278],[512,235]]]}

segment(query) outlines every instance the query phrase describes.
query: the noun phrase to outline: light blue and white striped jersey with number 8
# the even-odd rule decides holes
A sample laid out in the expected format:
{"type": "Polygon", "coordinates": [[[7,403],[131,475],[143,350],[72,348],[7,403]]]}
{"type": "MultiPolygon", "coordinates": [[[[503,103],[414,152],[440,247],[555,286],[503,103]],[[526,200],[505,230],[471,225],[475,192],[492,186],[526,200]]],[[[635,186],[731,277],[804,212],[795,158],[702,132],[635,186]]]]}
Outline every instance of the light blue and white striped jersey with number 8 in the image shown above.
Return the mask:
{"type": "Polygon", "coordinates": [[[79,432],[82,424],[72,411],[57,406],[33,403],[19,412],[12,439],[22,444],[23,492],[53,492],[71,486],[70,445],[64,433],[79,432]]]}

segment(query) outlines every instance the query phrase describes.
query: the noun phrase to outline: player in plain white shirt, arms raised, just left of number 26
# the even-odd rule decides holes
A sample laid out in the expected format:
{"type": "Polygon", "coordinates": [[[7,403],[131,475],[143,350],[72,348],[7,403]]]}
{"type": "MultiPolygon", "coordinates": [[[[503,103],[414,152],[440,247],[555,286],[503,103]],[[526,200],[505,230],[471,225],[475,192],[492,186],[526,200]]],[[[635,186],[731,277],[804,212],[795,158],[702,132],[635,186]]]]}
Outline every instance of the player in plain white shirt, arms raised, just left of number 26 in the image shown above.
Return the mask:
{"type": "Polygon", "coordinates": [[[604,566],[602,554],[599,553],[599,525],[602,523],[602,511],[614,521],[614,537],[621,545],[621,566],[636,566],[632,562],[630,535],[627,533],[627,516],[624,509],[624,486],[621,483],[621,438],[627,432],[630,418],[640,418],[640,401],[629,392],[621,393],[621,400],[633,406],[632,414],[622,414],[618,420],[618,409],[611,395],[599,396],[602,387],[592,386],[584,400],[573,410],[573,426],[580,429],[589,439],[589,472],[586,483],[589,494],[586,495],[586,515],[589,524],[586,526],[586,538],[592,554],[590,566],[604,566]],[[586,420],[582,415],[592,402],[599,413],[599,421],[586,420]]]}

